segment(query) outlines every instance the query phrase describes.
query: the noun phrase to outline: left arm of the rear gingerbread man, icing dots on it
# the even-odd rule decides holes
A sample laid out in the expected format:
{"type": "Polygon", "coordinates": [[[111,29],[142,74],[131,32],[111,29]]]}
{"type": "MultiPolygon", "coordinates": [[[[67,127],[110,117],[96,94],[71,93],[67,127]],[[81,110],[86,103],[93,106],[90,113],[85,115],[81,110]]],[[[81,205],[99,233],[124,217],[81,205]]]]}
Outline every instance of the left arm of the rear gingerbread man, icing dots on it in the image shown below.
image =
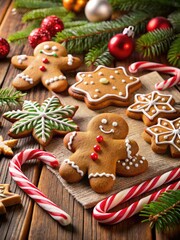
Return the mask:
{"type": "Polygon", "coordinates": [[[33,56],[27,56],[25,54],[17,55],[12,57],[11,63],[19,69],[25,69],[34,61],[34,59],[33,56]]]}

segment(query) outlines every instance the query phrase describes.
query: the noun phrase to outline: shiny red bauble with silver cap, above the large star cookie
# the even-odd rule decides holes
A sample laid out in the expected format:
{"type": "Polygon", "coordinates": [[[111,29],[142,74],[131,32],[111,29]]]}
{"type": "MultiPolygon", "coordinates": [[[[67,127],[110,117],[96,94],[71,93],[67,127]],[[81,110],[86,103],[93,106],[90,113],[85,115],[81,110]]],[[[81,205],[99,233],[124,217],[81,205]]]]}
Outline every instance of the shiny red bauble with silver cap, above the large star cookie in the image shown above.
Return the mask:
{"type": "Polygon", "coordinates": [[[133,27],[125,28],[123,33],[116,34],[108,43],[108,49],[112,56],[118,60],[125,59],[131,55],[134,50],[134,41],[131,36],[134,35],[133,27]]]}

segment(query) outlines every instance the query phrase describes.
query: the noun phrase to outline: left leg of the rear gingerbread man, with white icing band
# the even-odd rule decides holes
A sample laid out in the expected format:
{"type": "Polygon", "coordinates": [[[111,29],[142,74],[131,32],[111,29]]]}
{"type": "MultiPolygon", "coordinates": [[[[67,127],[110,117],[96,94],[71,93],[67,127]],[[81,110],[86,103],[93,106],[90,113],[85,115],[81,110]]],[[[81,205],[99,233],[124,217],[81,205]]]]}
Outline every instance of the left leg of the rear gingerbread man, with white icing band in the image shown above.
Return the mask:
{"type": "Polygon", "coordinates": [[[29,66],[23,72],[19,73],[12,82],[12,85],[18,90],[28,90],[36,86],[41,79],[40,71],[32,71],[33,67],[29,66]]]}

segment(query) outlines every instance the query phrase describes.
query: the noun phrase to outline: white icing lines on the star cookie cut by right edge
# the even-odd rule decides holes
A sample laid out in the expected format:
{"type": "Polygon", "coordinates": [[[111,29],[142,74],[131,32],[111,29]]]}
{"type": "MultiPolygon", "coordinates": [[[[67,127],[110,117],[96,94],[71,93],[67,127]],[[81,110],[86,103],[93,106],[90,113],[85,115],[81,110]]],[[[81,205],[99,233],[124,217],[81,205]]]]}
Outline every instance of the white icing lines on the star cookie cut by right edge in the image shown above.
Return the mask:
{"type": "Polygon", "coordinates": [[[178,151],[180,151],[180,147],[178,147],[178,146],[176,145],[176,143],[174,142],[175,139],[176,139],[176,137],[178,137],[179,140],[180,140],[180,125],[179,125],[179,128],[176,128],[175,125],[174,125],[174,122],[178,122],[178,123],[180,124],[180,118],[177,118],[177,119],[172,120],[172,121],[167,120],[167,119],[165,119],[165,118],[159,118],[159,119],[158,119],[158,124],[146,128],[146,131],[147,131],[148,133],[152,134],[152,135],[155,137],[155,143],[156,143],[157,145],[158,145],[158,144],[159,144],[159,145],[161,145],[161,144],[171,144],[171,145],[173,145],[178,151]],[[165,126],[165,125],[162,125],[162,124],[161,124],[161,121],[162,121],[162,122],[164,121],[165,123],[168,123],[172,128],[169,128],[169,127],[167,127],[167,126],[165,126]],[[155,132],[155,131],[153,131],[152,129],[154,129],[154,128],[156,128],[156,127],[164,128],[164,129],[166,129],[167,131],[166,131],[166,132],[155,132]],[[165,135],[165,134],[167,134],[167,135],[165,135]],[[171,140],[168,140],[168,139],[164,138],[164,141],[159,142],[158,138],[159,138],[159,136],[161,136],[161,135],[165,135],[164,137],[166,137],[166,136],[169,137],[169,136],[172,136],[172,135],[173,135],[173,137],[172,137],[171,140]]]}

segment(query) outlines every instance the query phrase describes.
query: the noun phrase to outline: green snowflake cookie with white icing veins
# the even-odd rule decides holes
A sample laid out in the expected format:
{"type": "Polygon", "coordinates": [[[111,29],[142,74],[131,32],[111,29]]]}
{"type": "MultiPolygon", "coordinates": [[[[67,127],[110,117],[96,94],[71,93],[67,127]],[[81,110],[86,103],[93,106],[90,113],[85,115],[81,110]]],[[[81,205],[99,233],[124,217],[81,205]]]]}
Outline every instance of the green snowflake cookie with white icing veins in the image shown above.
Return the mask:
{"type": "Polygon", "coordinates": [[[78,130],[72,120],[77,106],[63,106],[60,100],[53,96],[47,98],[42,105],[38,102],[24,101],[22,110],[13,110],[3,114],[3,117],[13,123],[9,136],[14,138],[33,137],[46,146],[54,134],[66,134],[78,130]]]}

